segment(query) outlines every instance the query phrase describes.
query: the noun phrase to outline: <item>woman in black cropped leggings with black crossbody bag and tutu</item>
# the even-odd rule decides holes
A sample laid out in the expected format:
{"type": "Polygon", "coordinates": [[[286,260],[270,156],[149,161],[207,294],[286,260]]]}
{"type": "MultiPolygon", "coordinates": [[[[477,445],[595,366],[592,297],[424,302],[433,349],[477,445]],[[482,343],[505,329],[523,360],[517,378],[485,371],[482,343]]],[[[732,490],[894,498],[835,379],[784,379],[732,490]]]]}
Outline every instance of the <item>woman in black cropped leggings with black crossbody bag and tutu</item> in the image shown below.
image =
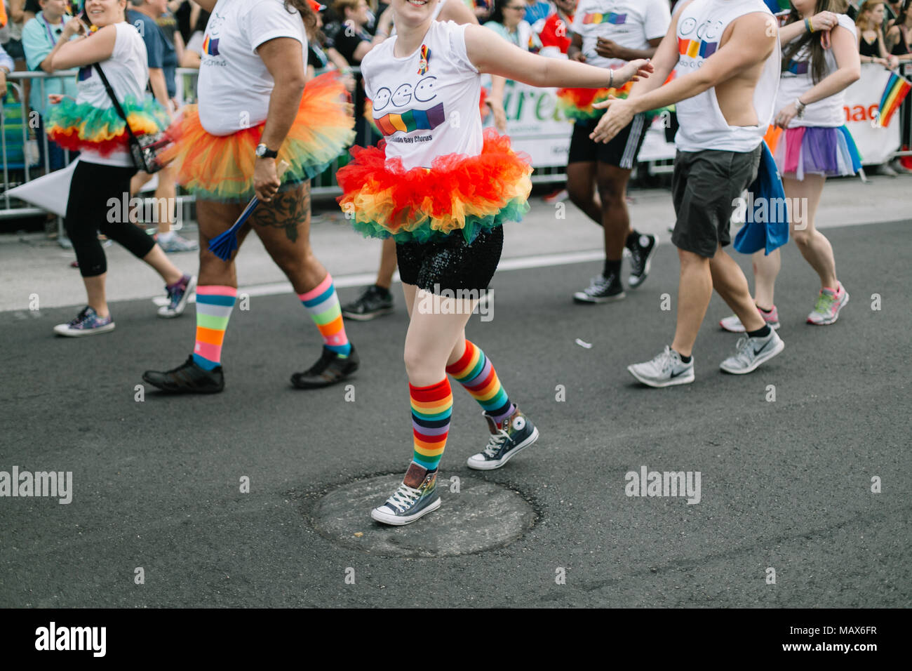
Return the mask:
{"type": "Polygon", "coordinates": [[[126,0],[88,0],[86,13],[92,27],[78,18],[70,19],[48,56],[54,69],[79,68],[77,100],[57,94],[48,97],[54,103],[47,121],[48,136],[70,151],[81,152],[70,183],[65,226],[88,305],[76,319],[54,327],[64,336],[114,330],[105,295],[108,263],[98,231],[125,246],[164,279],[170,300],[159,309],[161,317],[183,312],[195,282],[168,260],[151,236],[130,223],[130,177],[136,168],[130,158],[126,123],[96,67],[109,80],[134,134],[164,130],[168,115],[145,95],[149,79],[146,46],[136,28],[124,20],[126,4],[126,0]],[[79,37],[71,40],[74,36],[79,37]]]}

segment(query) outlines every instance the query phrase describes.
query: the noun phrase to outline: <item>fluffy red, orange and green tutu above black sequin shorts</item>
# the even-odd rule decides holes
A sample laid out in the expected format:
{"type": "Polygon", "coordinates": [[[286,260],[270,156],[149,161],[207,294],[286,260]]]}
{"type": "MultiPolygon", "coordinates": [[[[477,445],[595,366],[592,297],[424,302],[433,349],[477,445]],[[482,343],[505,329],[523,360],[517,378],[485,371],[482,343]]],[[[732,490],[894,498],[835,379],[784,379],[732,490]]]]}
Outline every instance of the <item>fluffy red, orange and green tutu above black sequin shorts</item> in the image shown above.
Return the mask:
{"type": "Polygon", "coordinates": [[[471,243],[529,209],[532,161],[491,128],[479,155],[438,156],[430,169],[406,170],[399,158],[387,161],[384,148],[353,148],[352,162],[336,174],[337,200],[363,236],[424,243],[461,231],[471,243]]]}

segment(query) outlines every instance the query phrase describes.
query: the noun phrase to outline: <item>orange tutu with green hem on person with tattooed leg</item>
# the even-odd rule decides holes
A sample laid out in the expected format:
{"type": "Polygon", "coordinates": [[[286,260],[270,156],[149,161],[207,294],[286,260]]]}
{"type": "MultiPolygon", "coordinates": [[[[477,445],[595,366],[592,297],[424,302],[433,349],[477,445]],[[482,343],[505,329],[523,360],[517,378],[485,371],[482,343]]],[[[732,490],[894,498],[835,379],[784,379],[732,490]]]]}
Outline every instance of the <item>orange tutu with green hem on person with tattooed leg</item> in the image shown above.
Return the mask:
{"type": "MultiPolygon", "coordinates": [[[[254,196],[254,152],[264,125],[212,135],[202,128],[197,106],[188,105],[168,130],[175,142],[162,158],[174,161],[177,182],[198,198],[245,203],[254,196]]],[[[308,81],[275,159],[290,166],[282,182],[305,182],[326,170],[354,140],[354,126],[348,94],[335,73],[308,81]]]]}

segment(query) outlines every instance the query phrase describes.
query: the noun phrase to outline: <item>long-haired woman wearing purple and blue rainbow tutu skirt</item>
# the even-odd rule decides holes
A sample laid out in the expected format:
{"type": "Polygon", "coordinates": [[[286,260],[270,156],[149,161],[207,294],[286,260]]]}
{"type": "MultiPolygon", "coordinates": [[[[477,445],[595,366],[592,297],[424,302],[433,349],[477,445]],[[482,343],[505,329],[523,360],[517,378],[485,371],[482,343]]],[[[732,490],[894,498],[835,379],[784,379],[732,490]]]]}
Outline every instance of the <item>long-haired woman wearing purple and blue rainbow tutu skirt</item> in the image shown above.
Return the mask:
{"type": "MultiPolygon", "coordinates": [[[[782,79],[776,97],[775,129],[767,135],[789,203],[792,236],[804,260],[820,278],[820,293],[807,323],[823,326],[839,318],[849,301],[836,278],[833,246],[817,230],[814,217],[827,177],[853,175],[861,158],[845,128],[845,89],[861,76],[855,23],[835,14],[836,0],[793,0],[792,14],[780,29],[782,79]]],[[[773,304],[780,252],[753,255],[754,301],[773,328],[780,325],[773,304]]],[[[725,330],[742,332],[735,316],[720,321],[725,330]]]]}

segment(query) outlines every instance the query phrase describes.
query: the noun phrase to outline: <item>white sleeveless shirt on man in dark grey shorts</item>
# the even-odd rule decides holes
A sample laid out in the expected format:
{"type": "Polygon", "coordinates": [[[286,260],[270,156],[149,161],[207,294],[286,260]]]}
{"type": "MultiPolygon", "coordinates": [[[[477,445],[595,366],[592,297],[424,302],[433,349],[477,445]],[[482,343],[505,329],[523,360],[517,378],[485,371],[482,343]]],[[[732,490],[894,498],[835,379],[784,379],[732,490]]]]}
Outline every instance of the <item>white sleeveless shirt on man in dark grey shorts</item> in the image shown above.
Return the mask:
{"type": "MultiPolygon", "coordinates": [[[[675,76],[685,77],[702,67],[703,61],[719,50],[725,29],[741,16],[754,12],[769,16],[770,25],[776,25],[762,0],[694,0],[685,7],[678,19],[679,60],[675,76]]],[[[777,39],[754,89],[752,102],[760,121],[756,126],[730,126],[720,110],[714,88],[681,100],[676,106],[680,129],[675,144],[679,151],[752,152],[756,149],[772,121],[781,59],[777,39]]]]}

